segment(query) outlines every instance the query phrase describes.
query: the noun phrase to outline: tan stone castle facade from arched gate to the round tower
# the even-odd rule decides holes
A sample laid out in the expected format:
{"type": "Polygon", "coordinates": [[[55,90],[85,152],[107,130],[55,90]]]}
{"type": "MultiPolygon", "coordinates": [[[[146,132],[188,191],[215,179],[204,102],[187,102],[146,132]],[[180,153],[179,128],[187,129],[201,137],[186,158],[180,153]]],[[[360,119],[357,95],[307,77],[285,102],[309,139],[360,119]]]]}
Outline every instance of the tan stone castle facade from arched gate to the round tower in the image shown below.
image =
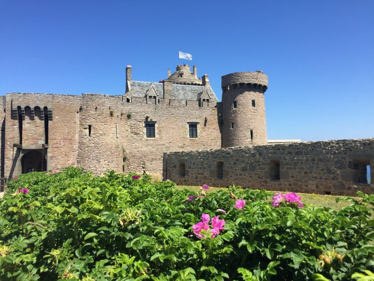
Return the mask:
{"type": "Polygon", "coordinates": [[[123,96],[103,94],[12,93],[3,101],[5,112],[0,118],[6,137],[1,167],[5,177],[20,174],[23,156],[33,150],[43,153],[47,170],[79,166],[95,174],[106,170],[162,174],[164,152],[221,146],[214,104],[199,107],[198,101],[169,99],[155,104],[147,103],[145,97],[127,102],[123,96]],[[48,144],[44,107],[50,114],[48,144]],[[23,115],[22,144],[19,112],[23,115]],[[155,138],[146,138],[147,121],[155,122],[155,138]],[[197,138],[189,138],[188,122],[197,124],[197,138]]]}

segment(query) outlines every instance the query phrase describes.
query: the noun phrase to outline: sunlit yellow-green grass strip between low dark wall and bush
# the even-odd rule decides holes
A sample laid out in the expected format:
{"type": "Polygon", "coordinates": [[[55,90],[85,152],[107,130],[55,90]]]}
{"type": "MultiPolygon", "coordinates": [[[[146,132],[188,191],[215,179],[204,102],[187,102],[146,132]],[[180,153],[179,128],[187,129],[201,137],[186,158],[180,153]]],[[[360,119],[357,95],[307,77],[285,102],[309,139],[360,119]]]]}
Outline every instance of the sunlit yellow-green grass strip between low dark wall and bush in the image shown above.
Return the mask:
{"type": "MultiPolygon", "coordinates": [[[[183,190],[183,189],[188,189],[190,191],[198,192],[200,191],[199,186],[186,186],[186,185],[177,185],[177,189],[183,190]]],[[[210,187],[210,189],[207,191],[208,193],[210,192],[216,192],[217,190],[220,189],[226,189],[224,187],[210,187]]],[[[268,200],[271,201],[272,196],[276,191],[268,191],[269,194],[268,200]]],[[[285,192],[288,193],[288,192],[285,192]]],[[[309,194],[309,193],[297,193],[299,196],[301,196],[301,201],[306,204],[306,205],[315,205],[318,207],[330,207],[335,210],[340,210],[345,206],[349,206],[350,202],[342,200],[339,202],[336,202],[336,198],[342,198],[345,196],[333,196],[333,195],[320,195],[320,194],[309,194]]]]}

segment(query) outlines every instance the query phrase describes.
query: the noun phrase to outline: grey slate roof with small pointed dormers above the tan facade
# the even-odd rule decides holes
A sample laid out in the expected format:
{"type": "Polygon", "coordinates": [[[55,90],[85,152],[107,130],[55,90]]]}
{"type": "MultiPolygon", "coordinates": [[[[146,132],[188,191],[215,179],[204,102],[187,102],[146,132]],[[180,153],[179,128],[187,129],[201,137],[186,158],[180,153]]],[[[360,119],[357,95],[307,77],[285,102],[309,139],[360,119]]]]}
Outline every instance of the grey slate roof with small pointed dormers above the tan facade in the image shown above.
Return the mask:
{"type": "MultiPolygon", "coordinates": [[[[129,97],[145,97],[151,85],[155,87],[160,97],[164,95],[163,83],[131,81],[131,90],[125,95],[129,97]]],[[[173,94],[171,99],[179,100],[198,100],[201,93],[207,90],[211,101],[218,102],[212,88],[210,86],[180,85],[173,84],[173,94]]]]}

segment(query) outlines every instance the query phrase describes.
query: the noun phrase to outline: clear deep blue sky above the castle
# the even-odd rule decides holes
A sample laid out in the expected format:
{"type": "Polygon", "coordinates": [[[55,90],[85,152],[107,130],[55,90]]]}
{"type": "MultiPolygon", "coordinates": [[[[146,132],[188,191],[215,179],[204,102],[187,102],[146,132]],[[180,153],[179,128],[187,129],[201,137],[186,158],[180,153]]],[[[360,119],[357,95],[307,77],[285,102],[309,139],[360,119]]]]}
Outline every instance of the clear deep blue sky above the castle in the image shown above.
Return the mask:
{"type": "Polygon", "coordinates": [[[374,137],[374,1],[0,0],[0,94],[263,70],[268,139],[374,137]],[[193,60],[178,59],[178,51],[193,60]]]}

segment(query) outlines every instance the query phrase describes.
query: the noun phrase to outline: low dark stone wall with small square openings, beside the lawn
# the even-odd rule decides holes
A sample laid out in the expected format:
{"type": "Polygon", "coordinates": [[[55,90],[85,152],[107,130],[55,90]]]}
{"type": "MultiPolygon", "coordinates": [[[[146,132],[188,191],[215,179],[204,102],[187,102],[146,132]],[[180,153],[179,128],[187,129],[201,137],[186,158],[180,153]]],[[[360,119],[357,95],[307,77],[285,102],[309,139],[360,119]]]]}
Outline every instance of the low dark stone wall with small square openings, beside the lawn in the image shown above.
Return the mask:
{"type": "Polygon", "coordinates": [[[373,179],[374,139],[242,146],[165,153],[164,179],[179,185],[355,195],[374,192],[373,182],[364,183],[368,164],[373,179]]]}

